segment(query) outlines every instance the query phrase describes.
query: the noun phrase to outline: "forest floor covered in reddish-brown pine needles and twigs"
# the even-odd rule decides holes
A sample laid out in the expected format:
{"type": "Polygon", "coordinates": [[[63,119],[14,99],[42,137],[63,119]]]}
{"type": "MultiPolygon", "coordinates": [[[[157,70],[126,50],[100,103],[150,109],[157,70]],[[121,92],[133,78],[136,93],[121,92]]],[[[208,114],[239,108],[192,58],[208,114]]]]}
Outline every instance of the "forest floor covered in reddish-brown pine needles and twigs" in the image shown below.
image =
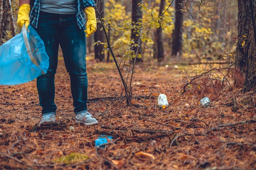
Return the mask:
{"type": "Polygon", "coordinates": [[[70,78],[61,57],[56,126],[38,126],[35,80],[0,86],[0,169],[256,170],[255,92],[200,92],[200,86],[184,92],[182,80],[196,67],[137,64],[132,80],[136,106],[127,106],[115,63],[87,60],[88,111],[99,121],[94,126],[74,120],[70,78]],[[168,97],[165,109],[157,106],[160,93],[168,97]],[[200,105],[206,96],[208,108],[200,105]],[[112,140],[96,147],[100,135],[112,140]]]}

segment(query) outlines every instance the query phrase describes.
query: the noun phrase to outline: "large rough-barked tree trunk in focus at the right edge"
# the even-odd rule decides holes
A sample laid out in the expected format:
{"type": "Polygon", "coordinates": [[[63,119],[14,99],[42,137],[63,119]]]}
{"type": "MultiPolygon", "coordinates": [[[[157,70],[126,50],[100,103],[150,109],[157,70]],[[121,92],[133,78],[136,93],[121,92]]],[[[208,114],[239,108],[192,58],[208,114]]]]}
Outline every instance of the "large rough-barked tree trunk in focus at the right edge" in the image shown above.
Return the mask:
{"type": "Polygon", "coordinates": [[[236,66],[245,73],[243,91],[256,90],[256,0],[238,0],[236,66]]]}

